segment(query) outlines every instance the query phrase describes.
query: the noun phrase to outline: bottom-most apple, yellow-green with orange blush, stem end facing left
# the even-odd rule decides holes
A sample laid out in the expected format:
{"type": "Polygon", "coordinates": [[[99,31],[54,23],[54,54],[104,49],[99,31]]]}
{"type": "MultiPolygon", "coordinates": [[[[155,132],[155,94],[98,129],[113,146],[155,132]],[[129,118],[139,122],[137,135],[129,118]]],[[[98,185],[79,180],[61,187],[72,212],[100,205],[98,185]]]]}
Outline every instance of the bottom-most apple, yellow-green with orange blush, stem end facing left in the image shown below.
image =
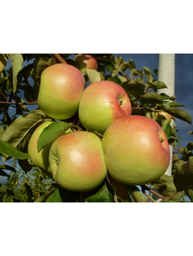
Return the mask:
{"type": "Polygon", "coordinates": [[[56,140],[49,152],[54,180],[63,189],[89,192],[107,176],[102,142],[89,132],[69,133],[56,140]]]}

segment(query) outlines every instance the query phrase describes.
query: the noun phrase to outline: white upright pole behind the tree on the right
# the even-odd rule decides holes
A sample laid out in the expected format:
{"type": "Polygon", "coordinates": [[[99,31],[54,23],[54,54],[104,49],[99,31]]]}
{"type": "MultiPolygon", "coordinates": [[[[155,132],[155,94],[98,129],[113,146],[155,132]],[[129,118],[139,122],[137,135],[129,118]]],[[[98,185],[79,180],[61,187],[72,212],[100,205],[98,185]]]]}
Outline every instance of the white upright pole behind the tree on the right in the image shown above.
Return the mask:
{"type": "MultiPolygon", "coordinates": [[[[168,88],[159,89],[158,93],[165,93],[169,96],[174,96],[174,84],[175,84],[175,54],[160,54],[159,55],[159,67],[158,67],[158,81],[163,81],[168,88]]],[[[171,121],[171,126],[174,126],[174,121],[171,121]]],[[[173,161],[173,148],[171,150],[171,163],[166,175],[172,174],[172,161],[173,161]]]]}

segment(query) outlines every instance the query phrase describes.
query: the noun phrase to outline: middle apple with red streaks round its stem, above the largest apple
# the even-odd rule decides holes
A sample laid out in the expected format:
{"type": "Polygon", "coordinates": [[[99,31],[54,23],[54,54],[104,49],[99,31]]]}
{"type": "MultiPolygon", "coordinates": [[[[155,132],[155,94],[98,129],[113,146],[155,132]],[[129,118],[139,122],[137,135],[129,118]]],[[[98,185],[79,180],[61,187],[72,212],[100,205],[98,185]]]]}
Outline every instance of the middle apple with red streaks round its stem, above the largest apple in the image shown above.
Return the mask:
{"type": "Polygon", "coordinates": [[[103,134],[107,127],[123,116],[130,116],[132,106],[127,92],[113,81],[98,81],[83,92],[79,118],[83,126],[103,134]]]}

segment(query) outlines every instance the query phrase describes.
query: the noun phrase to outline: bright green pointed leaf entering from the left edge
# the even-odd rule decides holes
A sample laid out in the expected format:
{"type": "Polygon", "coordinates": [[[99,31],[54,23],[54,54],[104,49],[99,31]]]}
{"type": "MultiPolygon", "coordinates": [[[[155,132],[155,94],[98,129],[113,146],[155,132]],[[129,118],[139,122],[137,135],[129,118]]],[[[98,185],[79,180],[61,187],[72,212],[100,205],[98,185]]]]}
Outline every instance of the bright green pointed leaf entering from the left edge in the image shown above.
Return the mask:
{"type": "Polygon", "coordinates": [[[8,155],[9,157],[15,157],[18,159],[26,159],[29,157],[29,154],[22,153],[17,150],[15,147],[12,147],[8,142],[0,140],[0,153],[8,155]]]}

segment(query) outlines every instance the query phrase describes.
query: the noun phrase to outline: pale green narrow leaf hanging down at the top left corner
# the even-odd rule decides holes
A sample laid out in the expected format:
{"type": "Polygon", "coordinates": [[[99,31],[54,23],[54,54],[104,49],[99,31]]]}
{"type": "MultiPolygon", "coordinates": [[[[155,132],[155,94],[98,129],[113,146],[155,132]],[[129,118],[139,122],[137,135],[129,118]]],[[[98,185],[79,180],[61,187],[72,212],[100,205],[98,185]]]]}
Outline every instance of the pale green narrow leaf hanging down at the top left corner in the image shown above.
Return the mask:
{"type": "Polygon", "coordinates": [[[17,90],[18,74],[22,70],[23,57],[22,54],[6,54],[12,63],[12,85],[13,93],[17,90]]]}

